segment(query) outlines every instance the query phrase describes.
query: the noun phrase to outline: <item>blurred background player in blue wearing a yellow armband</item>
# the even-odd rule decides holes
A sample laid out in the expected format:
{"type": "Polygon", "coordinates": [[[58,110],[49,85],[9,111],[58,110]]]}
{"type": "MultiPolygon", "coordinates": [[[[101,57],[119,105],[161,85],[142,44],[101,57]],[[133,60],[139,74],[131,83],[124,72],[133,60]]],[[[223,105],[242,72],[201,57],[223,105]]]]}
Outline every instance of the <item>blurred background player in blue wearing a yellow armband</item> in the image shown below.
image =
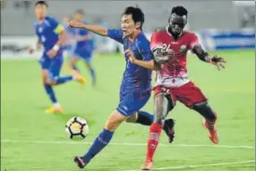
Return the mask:
{"type": "MultiPolygon", "coordinates": [[[[35,32],[38,38],[36,48],[44,47],[39,63],[42,68],[42,80],[45,90],[53,103],[49,112],[63,112],[63,108],[55,97],[52,89],[53,85],[61,85],[66,82],[76,80],[84,83],[84,78],[79,74],[60,77],[60,71],[63,65],[63,48],[62,45],[66,38],[64,27],[57,20],[46,15],[48,4],[45,1],[37,1],[35,6],[37,21],[34,24],[35,32]]],[[[29,48],[29,53],[33,53],[36,49],[29,48]]]]}

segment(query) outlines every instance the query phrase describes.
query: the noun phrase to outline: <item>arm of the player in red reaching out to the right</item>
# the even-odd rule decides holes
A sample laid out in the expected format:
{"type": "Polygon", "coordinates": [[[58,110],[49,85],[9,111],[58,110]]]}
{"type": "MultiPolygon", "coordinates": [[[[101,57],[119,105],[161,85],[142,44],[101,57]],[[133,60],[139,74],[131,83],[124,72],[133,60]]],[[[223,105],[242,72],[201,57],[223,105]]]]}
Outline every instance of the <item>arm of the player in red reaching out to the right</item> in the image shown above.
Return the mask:
{"type": "Polygon", "coordinates": [[[195,45],[192,48],[192,52],[201,60],[206,61],[208,63],[211,63],[215,66],[217,66],[218,70],[220,71],[220,68],[224,69],[223,63],[226,63],[226,60],[218,57],[218,56],[210,56],[201,45],[195,45]]]}

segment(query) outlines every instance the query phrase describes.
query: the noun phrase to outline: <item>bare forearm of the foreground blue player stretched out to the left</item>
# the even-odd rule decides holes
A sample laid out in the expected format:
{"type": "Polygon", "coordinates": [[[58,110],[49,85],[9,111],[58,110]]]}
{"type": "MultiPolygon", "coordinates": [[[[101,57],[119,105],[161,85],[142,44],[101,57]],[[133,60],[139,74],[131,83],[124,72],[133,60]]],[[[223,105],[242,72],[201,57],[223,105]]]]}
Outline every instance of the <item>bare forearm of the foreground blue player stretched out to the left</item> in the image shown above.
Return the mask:
{"type": "Polygon", "coordinates": [[[91,25],[91,24],[84,24],[81,22],[78,22],[76,20],[71,20],[68,22],[69,27],[72,28],[81,28],[86,29],[88,31],[91,31],[92,33],[96,33],[102,36],[107,36],[107,28],[98,26],[98,25],[91,25]]]}

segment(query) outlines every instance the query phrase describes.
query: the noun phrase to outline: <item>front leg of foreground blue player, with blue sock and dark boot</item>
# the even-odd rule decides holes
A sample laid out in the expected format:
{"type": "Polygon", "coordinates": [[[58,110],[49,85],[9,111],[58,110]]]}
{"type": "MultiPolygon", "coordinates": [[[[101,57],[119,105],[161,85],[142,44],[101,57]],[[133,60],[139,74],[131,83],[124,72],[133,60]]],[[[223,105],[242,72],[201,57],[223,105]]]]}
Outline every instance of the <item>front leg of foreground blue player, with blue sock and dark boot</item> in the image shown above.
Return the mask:
{"type": "Polygon", "coordinates": [[[98,152],[102,151],[107,146],[108,142],[113,137],[114,131],[126,119],[127,117],[118,111],[111,112],[104,130],[99,137],[95,139],[90,150],[82,157],[75,157],[74,162],[78,164],[79,168],[84,168],[98,152]]]}

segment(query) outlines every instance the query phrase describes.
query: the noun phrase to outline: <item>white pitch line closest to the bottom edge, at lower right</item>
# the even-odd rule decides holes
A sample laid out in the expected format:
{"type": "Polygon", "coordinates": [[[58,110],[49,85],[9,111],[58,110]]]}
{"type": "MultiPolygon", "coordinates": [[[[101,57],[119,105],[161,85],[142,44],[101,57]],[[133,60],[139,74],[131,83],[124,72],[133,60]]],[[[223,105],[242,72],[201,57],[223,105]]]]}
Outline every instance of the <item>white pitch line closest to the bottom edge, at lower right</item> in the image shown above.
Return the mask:
{"type": "MultiPolygon", "coordinates": [[[[255,161],[254,160],[249,160],[249,161],[218,163],[218,164],[178,165],[178,166],[172,166],[172,167],[153,168],[153,170],[173,170],[173,169],[184,169],[184,168],[194,168],[194,167],[204,167],[204,166],[219,166],[219,165],[232,165],[232,164],[250,164],[250,163],[255,163],[255,161]]],[[[140,171],[140,169],[123,170],[123,171],[140,171]]]]}

